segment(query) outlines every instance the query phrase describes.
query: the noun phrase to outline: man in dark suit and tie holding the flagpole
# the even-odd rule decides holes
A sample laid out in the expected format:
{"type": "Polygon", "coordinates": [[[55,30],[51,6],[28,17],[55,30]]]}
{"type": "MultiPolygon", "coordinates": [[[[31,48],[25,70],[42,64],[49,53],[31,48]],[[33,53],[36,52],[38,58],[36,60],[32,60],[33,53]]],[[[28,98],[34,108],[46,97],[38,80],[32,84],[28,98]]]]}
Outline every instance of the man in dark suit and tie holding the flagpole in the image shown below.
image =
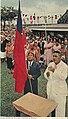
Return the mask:
{"type": "Polygon", "coordinates": [[[41,75],[39,64],[34,61],[34,54],[28,53],[27,56],[28,79],[25,83],[24,94],[32,92],[38,94],[38,77],[41,75]]]}

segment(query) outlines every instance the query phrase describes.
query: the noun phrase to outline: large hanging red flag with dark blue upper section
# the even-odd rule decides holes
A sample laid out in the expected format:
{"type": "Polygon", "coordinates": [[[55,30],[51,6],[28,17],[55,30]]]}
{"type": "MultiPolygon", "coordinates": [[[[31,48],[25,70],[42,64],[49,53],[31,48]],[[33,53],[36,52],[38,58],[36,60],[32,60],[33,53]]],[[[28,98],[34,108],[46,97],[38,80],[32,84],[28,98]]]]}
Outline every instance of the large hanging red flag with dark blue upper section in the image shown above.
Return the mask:
{"type": "Polygon", "coordinates": [[[25,51],[24,45],[26,43],[26,35],[24,29],[22,29],[22,19],[20,11],[20,0],[19,0],[19,10],[17,19],[17,29],[14,44],[14,74],[15,78],[15,92],[22,93],[24,90],[24,85],[27,80],[27,69],[25,61],[25,51]]]}

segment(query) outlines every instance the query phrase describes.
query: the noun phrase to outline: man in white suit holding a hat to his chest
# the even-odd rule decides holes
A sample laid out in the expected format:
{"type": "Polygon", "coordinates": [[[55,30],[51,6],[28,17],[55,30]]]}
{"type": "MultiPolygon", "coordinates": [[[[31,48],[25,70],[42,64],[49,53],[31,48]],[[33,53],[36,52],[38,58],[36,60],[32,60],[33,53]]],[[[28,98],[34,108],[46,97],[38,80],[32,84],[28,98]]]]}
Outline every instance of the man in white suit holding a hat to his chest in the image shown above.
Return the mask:
{"type": "Polygon", "coordinates": [[[56,117],[65,117],[65,105],[67,96],[67,78],[68,66],[61,60],[59,51],[53,52],[53,62],[49,63],[44,72],[44,77],[48,80],[47,96],[48,99],[58,103],[56,108],[56,117]]]}

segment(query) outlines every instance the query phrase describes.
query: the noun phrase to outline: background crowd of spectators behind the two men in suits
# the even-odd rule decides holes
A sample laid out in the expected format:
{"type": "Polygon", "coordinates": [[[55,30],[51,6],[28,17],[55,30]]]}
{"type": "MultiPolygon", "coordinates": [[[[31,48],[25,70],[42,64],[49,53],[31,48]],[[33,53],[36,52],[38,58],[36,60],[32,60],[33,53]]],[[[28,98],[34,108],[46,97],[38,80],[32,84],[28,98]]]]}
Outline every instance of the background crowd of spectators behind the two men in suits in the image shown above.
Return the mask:
{"type": "MultiPolygon", "coordinates": [[[[27,42],[26,45],[24,46],[26,60],[28,52],[32,51],[35,55],[35,60],[37,62],[39,63],[43,62],[45,66],[48,66],[49,62],[52,60],[53,51],[59,50],[62,54],[62,60],[68,64],[67,37],[64,37],[64,39],[62,40],[60,38],[57,39],[55,37],[51,38],[50,36],[48,36],[46,39],[44,36],[40,37],[34,34],[32,35],[30,34],[30,36],[27,36],[26,39],[27,42]]],[[[5,57],[7,57],[7,62],[13,61],[14,40],[15,40],[15,29],[1,32],[2,61],[4,60],[5,57]],[[9,58],[11,58],[11,61],[8,61],[9,58]]],[[[9,65],[11,65],[11,63],[9,63],[9,65]]]]}

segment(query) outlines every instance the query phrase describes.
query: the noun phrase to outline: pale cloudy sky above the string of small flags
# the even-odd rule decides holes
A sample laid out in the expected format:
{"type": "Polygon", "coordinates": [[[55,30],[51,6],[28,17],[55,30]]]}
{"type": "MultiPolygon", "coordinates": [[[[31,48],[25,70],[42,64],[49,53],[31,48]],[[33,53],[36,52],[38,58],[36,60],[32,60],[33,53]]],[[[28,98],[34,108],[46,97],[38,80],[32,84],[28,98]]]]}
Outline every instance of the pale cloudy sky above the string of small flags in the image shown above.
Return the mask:
{"type": "MultiPolygon", "coordinates": [[[[23,14],[63,15],[68,9],[68,0],[20,0],[23,14]]],[[[1,6],[13,6],[18,9],[18,0],[1,0],[1,6]]]]}

